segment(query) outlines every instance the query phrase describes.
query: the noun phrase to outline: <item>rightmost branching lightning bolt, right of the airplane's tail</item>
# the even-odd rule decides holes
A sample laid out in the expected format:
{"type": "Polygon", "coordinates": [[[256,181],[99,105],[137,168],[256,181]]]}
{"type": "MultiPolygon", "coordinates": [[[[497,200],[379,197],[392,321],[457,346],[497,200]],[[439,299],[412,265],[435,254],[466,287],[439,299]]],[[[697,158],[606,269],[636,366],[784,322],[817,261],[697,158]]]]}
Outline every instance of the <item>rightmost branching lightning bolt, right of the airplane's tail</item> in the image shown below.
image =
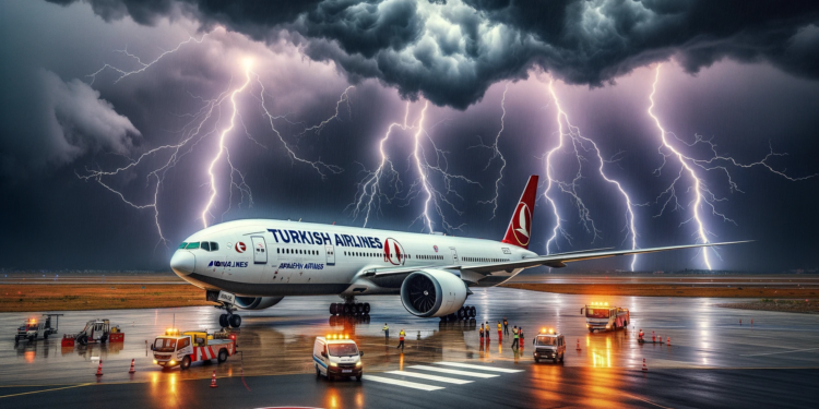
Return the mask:
{"type": "MultiPolygon", "coordinates": [[[[675,161],[679,164],[680,168],[679,168],[679,172],[676,175],[676,177],[674,178],[672,183],[668,185],[668,188],[664,190],[656,197],[654,202],[656,204],[663,201],[663,197],[665,197],[665,201],[663,201],[663,205],[660,209],[660,213],[655,217],[662,216],[665,209],[669,206],[669,204],[672,205],[674,210],[685,208],[685,206],[682,206],[679,203],[679,197],[677,196],[676,187],[678,183],[682,181],[684,177],[686,177],[686,179],[689,180],[689,183],[690,183],[688,191],[693,192],[695,196],[691,203],[689,204],[689,206],[691,207],[691,216],[685,221],[682,221],[680,226],[688,224],[688,222],[693,222],[697,226],[696,231],[695,231],[697,241],[701,243],[708,243],[709,236],[714,236],[714,234],[711,231],[709,231],[708,228],[705,227],[703,215],[700,213],[701,209],[705,207],[710,208],[711,215],[721,218],[723,221],[732,222],[734,225],[736,225],[736,221],[734,221],[733,219],[728,218],[724,214],[716,210],[716,206],[714,205],[714,203],[723,202],[723,201],[726,201],[727,199],[716,196],[709,189],[703,178],[698,175],[698,172],[696,171],[696,168],[700,169],[703,172],[708,172],[712,170],[722,172],[723,175],[727,177],[728,187],[732,192],[733,191],[741,192],[741,190],[739,190],[738,185],[732,179],[731,172],[728,171],[727,166],[721,165],[723,163],[738,167],[738,168],[763,167],[768,169],[769,171],[775,175],[779,175],[790,181],[800,181],[800,180],[810,179],[817,176],[817,175],[810,175],[810,176],[800,177],[800,178],[793,178],[793,177],[787,176],[784,171],[774,169],[768,163],[768,160],[776,156],[785,156],[786,154],[779,154],[779,153],[773,152],[773,148],[770,145],[769,145],[768,155],[765,155],[761,160],[751,163],[751,164],[741,164],[737,161],[736,159],[734,159],[733,157],[720,155],[716,152],[716,145],[710,140],[702,139],[700,135],[695,135],[695,141],[689,144],[680,140],[679,137],[677,137],[677,135],[675,135],[673,132],[666,131],[663,124],[661,123],[660,118],[657,118],[657,116],[654,113],[654,106],[655,106],[654,95],[656,95],[657,84],[660,83],[661,68],[662,68],[662,64],[657,64],[655,69],[654,82],[652,83],[651,94],[649,95],[649,100],[651,104],[648,109],[648,113],[654,120],[654,124],[656,125],[657,131],[658,131],[657,134],[660,136],[660,142],[661,142],[658,152],[660,152],[660,155],[663,156],[663,163],[657,169],[654,170],[654,173],[657,176],[661,175],[662,169],[667,165],[668,158],[675,159],[675,161]],[[693,158],[682,153],[681,148],[676,147],[673,143],[675,141],[688,147],[692,147],[697,144],[707,144],[710,147],[713,155],[705,159],[693,158]]],[[[719,253],[716,253],[715,250],[714,250],[714,254],[719,256],[719,253]]],[[[702,261],[705,264],[708,269],[712,269],[708,249],[702,250],[702,261]]]]}

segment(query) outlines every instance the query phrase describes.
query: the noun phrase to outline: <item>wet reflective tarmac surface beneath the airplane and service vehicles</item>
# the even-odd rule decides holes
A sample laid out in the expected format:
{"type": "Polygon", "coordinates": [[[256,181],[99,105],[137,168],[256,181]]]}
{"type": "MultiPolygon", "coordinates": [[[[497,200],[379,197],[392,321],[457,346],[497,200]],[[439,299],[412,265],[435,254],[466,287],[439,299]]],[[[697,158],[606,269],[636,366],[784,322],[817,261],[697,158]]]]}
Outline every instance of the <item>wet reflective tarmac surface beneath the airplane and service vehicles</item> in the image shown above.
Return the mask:
{"type": "Polygon", "coordinates": [[[396,297],[364,299],[369,320],[330,317],[340,299],[285,299],[269,310],[241,312],[240,356],[224,364],[194,363],[162,371],[146,344],[165,328],[216,329],[219,310],[67,312],[60,334],[87,320],[121,325],[120,346],[61,348],[59,339],[14,346],[13,332],[38,314],[0,314],[0,402],[15,407],[812,407],[819,399],[819,315],[713,306],[738,299],[591,297],[514,289],[478,289],[467,304],[478,322],[440,324],[412,317],[396,297]],[[608,302],[631,311],[631,326],[672,345],[640,345],[636,333],[589,334],[580,308],[608,302]],[[524,328],[520,350],[499,342],[497,322],[524,328]],[[741,325],[739,323],[741,320],[741,325]],[[751,326],[751,320],[753,325],[751,326]],[[490,341],[477,326],[489,322],[490,341]],[[381,327],[389,323],[391,339],[381,327]],[[531,341],[554,327],[569,344],[563,364],[532,360],[531,341]],[[395,349],[397,330],[406,349],[395,349]],[[365,380],[317,380],[311,363],[316,336],[346,333],[365,352],[365,380]],[[575,350],[577,344],[581,350],[575,350]],[[104,376],[94,372],[104,362],[104,376]],[[131,359],[136,373],[128,374],[131,359]],[[642,360],[649,371],[644,373],[642,360]],[[216,371],[218,388],[209,388],[216,371]],[[241,376],[244,374],[244,377],[241,376]]]}

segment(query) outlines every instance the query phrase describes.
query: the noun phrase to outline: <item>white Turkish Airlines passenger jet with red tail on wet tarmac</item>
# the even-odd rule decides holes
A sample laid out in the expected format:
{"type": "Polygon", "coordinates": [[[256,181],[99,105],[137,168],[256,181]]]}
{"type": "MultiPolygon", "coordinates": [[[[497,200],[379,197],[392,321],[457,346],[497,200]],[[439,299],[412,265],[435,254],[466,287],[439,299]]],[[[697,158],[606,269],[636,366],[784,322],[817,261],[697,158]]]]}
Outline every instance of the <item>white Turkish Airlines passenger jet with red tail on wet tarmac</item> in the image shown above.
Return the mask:
{"type": "Polygon", "coordinates": [[[237,310],[271,308],[285,297],[337,294],[330,313],[369,313],[356,297],[397,294],[419,317],[475,316],[473,287],[495,287],[525,268],[746,241],[638,250],[595,249],[541,255],[529,250],[537,193],[533,175],[501,241],[289,220],[222,222],[191,234],[171,269],[224,309],[219,325],[239,327],[237,310]]]}

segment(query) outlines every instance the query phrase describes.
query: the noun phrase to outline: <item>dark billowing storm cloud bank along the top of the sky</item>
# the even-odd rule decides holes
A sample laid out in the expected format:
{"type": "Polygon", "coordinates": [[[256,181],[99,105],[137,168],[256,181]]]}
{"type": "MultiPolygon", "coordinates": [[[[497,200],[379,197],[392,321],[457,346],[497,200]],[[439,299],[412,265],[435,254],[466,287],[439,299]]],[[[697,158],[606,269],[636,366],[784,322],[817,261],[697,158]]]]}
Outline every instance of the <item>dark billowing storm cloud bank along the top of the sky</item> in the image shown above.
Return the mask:
{"type": "MultiPolygon", "coordinates": [[[[72,1],[60,0],[59,3],[72,1]]],[[[592,86],[676,57],[691,73],[723,58],[819,79],[819,3],[709,0],[87,0],[106,20],[187,15],[256,39],[285,34],[353,81],[464,108],[492,83],[539,67],[592,86]]]]}

